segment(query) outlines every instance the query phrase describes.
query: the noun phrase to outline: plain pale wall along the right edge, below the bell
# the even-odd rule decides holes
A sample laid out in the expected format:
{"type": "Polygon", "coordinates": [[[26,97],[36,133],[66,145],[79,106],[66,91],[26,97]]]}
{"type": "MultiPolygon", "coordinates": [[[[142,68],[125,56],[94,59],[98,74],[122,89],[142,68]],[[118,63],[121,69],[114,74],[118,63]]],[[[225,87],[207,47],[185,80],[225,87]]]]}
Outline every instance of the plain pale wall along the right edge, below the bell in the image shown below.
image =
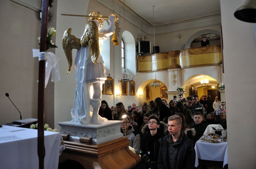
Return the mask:
{"type": "Polygon", "coordinates": [[[228,167],[255,168],[256,161],[256,42],[252,23],[234,12],[245,0],[221,0],[225,92],[228,129],[228,167]],[[251,101],[246,101],[250,99],[251,101]],[[239,102],[243,104],[239,104],[239,102]]]}

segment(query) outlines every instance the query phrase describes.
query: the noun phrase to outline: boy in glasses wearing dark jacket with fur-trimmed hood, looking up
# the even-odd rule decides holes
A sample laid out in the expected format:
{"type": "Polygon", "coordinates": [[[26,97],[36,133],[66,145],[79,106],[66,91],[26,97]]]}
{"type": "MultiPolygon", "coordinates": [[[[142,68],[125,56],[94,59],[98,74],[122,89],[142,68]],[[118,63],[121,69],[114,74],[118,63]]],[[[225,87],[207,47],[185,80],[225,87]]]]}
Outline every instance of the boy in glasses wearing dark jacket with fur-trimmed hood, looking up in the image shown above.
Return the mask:
{"type": "Polygon", "coordinates": [[[160,143],[159,139],[164,137],[168,132],[168,126],[160,121],[156,115],[151,115],[148,118],[149,122],[142,128],[141,136],[141,156],[149,159],[147,167],[151,169],[157,168],[158,154],[160,143]]]}

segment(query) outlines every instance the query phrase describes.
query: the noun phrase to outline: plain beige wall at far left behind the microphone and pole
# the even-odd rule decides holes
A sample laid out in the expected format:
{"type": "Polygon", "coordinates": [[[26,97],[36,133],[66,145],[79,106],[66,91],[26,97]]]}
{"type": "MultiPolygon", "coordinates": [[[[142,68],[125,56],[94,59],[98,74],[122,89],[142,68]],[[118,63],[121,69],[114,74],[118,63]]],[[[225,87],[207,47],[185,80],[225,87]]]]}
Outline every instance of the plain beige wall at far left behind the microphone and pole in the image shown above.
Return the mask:
{"type": "MultiPolygon", "coordinates": [[[[48,26],[55,27],[56,8],[57,1],[48,26]]],[[[19,119],[19,112],[5,93],[9,93],[23,119],[37,118],[38,58],[33,58],[32,49],[39,49],[37,38],[40,36],[41,20],[37,12],[5,0],[0,5],[0,23],[0,124],[19,119]]],[[[45,89],[45,123],[51,127],[54,124],[53,85],[49,80],[45,89]]]]}

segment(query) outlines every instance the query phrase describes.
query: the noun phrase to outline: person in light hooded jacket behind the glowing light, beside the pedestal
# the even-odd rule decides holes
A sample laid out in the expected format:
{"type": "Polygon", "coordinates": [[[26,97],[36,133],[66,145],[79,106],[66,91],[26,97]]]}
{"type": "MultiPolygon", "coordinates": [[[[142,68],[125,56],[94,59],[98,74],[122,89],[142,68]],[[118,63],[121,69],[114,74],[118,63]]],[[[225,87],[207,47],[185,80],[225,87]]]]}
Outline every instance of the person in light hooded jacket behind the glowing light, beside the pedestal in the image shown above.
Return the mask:
{"type": "Polygon", "coordinates": [[[128,116],[129,113],[124,113],[126,118],[122,119],[123,123],[121,123],[121,133],[124,134],[124,137],[127,137],[130,141],[129,146],[134,148],[136,153],[140,152],[140,134],[137,133],[132,125],[131,120],[128,116]]]}

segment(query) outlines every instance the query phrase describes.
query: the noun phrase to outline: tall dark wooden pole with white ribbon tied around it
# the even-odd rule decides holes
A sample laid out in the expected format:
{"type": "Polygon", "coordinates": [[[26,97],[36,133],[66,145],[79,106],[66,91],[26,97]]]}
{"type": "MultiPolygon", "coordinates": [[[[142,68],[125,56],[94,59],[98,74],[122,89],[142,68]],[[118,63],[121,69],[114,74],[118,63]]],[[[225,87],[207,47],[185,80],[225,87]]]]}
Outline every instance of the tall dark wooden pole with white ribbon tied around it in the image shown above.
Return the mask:
{"type": "MultiPolygon", "coordinates": [[[[42,20],[41,20],[41,38],[40,52],[46,51],[46,37],[48,25],[48,6],[49,0],[43,0],[42,3],[42,20]]],[[[38,138],[37,138],[37,153],[39,158],[39,169],[44,169],[44,94],[45,94],[45,60],[39,61],[39,76],[38,76],[38,138]]]]}

